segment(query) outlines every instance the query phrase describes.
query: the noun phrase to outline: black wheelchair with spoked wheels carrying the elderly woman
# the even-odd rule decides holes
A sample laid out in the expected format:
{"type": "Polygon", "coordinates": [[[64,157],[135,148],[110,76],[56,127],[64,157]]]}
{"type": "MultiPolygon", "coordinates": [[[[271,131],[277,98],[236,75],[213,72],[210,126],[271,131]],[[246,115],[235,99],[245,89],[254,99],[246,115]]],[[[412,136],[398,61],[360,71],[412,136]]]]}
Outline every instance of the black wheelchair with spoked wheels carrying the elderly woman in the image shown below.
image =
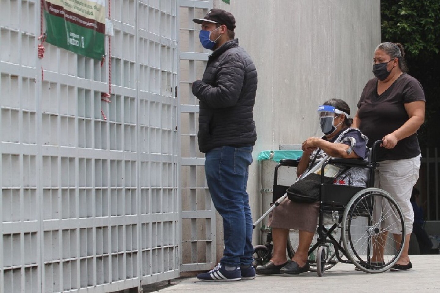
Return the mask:
{"type": "MultiPolygon", "coordinates": [[[[367,273],[382,273],[396,264],[402,253],[406,238],[402,210],[389,193],[374,187],[374,170],[378,166],[376,153],[381,143],[379,140],[373,144],[368,161],[329,158],[321,166],[319,223],[308,251],[310,271],[317,272],[318,276],[338,262],[354,264],[367,273]],[[367,187],[323,183],[324,168],[329,164],[368,169],[367,187]],[[370,262],[374,250],[384,251],[379,256],[383,262],[370,262]]],[[[279,168],[297,167],[298,163],[297,160],[284,159],[275,167],[273,204],[254,227],[287,197],[289,186],[278,185],[279,168]]],[[[294,231],[289,235],[286,253],[291,259],[298,240],[294,231]]],[[[254,267],[271,259],[271,237],[268,232],[266,243],[254,246],[254,267]]]]}

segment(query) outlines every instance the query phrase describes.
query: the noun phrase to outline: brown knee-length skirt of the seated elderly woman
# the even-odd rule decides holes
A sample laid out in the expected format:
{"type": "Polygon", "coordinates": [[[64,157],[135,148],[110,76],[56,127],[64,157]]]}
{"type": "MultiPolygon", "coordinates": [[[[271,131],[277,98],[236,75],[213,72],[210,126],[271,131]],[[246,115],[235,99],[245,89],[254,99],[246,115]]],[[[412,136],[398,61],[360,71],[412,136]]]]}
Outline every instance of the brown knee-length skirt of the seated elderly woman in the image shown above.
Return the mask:
{"type": "Polygon", "coordinates": [[[300,203],[286,199],[269,215],[268,226],[315,232],[318,225],[319,201],[300,203]]]}

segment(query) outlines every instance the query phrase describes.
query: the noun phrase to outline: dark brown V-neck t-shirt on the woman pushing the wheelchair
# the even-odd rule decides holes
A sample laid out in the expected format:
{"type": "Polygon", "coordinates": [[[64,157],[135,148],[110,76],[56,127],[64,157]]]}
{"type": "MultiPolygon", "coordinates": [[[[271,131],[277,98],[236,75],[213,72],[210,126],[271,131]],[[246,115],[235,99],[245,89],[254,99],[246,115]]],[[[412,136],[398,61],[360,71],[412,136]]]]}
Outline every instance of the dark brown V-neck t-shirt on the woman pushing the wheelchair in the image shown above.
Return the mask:
{"type": "MultiPolygon", "coordinates": [[[[403,73],[381,95],[378,95],[378,79],[370,79],[363,88],[357,104],[360,119],[359,129],[368,137],[368,147],[376,140],[400,128],[408,119],[404,104],[425,101],[425,93],[417,79],[403,73]]],[[[396,147],[378,150],[377,161],[400,160],[420,154],[417,132],[400,140],[396,147]]]]}

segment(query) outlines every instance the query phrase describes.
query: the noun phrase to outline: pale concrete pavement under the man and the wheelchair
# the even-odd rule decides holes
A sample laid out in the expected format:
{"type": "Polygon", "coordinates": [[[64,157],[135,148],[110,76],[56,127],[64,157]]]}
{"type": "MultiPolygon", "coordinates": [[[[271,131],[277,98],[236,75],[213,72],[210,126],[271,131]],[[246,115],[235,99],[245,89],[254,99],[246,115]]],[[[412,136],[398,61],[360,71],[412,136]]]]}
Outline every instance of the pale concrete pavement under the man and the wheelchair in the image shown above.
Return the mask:
{"type": "Polygon", "coordinates": [[[172,280],[175,285],[157,292],[178,293],[290,293],[290,292],[436,292],[440,293],[440,255],[412,255],[412,271],[386,271],[367,274],[355,271],[352,264],[337,264],[323,277],[307,272],[297,276],[259,276],[249,281],[200,282],[197,278],[172,280]]]}

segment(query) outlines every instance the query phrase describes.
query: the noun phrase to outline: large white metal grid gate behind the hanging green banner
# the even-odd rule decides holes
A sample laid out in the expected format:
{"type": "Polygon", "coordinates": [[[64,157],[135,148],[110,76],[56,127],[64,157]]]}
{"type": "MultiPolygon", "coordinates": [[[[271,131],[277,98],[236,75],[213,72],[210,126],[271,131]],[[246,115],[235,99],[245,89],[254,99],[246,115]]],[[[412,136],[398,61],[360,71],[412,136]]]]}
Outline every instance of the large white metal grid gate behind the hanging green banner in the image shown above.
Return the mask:
{"type": "Polygon", "coordinates": [[[40,1],[0,0],[0,293],[180,275],[176,1],[112,0],[101,66],[38,59],[40,1]]]}

